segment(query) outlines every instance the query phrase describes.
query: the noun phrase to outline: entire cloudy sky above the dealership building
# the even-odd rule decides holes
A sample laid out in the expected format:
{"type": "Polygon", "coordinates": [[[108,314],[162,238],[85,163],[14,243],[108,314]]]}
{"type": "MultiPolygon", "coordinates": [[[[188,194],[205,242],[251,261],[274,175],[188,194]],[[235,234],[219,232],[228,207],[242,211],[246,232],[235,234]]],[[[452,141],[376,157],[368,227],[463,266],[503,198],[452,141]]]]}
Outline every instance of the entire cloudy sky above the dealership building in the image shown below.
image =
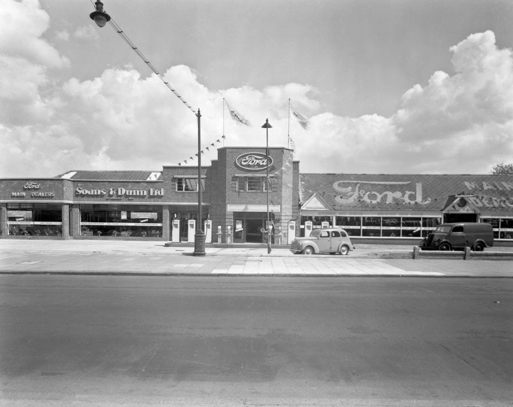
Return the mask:
{"type": "Polygon", "coordinates": [[[0,0],[0,178],[294,149],[300,172],[513,163],[509,0],[0,0]],[[226,102],[226,103],[225,103],[226,102]],[[249,125],[231,118],[228,106],[249,125]],[[305,126],[293,115],[306,119],[305,126]]]}

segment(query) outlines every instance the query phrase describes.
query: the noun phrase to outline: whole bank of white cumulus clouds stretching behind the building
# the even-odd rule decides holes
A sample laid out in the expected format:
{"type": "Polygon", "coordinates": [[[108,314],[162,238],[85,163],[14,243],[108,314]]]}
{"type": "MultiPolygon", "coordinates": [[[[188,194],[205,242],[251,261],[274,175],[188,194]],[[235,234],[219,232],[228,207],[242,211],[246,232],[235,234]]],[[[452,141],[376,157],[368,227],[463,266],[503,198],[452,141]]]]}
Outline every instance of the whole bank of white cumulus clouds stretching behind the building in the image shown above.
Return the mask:
{"type": "MultiPolygon", "coordinates": [[[[69,63],[42,37],[47,13],[34,0],[0,2],[0,177],[159,170],[184,160],[195,165],[196,116],[159,77],[128,66],[58,82],[52,70],[69,63]],[[15,28],[19,24],[27,29],[15,28]]],[[[88,39],[96,32],[84,28],[74,35],[88,39]]],[[[486,173],[493,164],[512,162],[511,51],[499,49],[494,33],[486,31],[450,52],[454,72],[434,72],[426,84],[406,90],[388,118],[324,112],[318,90],[308,84],[218,90],[205,87],[184,65],[163,75],[193,110],[201,109],[203,164],[223,145],[264,146],[266,118],[273,126],[269,144],[287,146],[290,134],[302,172],[486,173]],[[223,118],[223,98],[252,126],[231,120],[227,111],[223,118]],[[289,99],[307,117],[306,129],[293,117],[289,121],[289,99]]]]}

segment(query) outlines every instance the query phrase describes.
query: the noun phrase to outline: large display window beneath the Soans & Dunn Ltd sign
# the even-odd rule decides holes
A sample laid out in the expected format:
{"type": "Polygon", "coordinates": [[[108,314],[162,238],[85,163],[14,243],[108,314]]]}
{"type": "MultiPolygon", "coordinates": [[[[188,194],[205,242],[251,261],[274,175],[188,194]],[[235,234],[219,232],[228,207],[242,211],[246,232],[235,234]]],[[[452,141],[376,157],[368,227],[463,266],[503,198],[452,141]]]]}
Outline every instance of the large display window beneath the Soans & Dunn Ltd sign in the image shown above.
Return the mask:
{"type": "Polygon", "coordinates": [[[80,205],[81,236],[162,237],[160,205],[80,205]]]}

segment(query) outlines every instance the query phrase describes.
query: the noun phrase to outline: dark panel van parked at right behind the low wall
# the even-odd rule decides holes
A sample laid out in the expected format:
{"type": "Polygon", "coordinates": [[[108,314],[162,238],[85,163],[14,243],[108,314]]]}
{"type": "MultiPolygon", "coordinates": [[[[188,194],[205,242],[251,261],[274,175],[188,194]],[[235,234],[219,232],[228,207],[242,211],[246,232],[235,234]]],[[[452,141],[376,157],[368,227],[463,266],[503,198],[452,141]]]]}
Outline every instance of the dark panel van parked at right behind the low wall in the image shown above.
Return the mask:
{"type": "Polygon", "coordinates": [[[494,245],[494,229],[489,223],[442,223],[422,240],[423,250],[483,251],[494,245]]]}

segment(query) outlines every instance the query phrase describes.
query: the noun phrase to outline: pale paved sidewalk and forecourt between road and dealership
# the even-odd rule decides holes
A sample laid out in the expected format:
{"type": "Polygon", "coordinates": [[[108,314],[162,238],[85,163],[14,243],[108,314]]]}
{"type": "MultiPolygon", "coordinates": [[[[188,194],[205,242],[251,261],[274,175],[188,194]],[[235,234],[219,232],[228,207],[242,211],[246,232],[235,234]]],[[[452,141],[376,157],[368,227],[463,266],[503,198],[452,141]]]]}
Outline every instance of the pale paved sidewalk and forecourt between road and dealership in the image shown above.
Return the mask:
{"type": "MultiPolygon", "coordinates": [[[[288,248],[166,247],[157,241],[0,240],[2,274],[276,277],[513,278],[513,261],[411,259],[409,245],[359,245],[349,256],[293,255],[288,248]]],[[[513,248],[502,248],[513,251],[513,248]]]]}

